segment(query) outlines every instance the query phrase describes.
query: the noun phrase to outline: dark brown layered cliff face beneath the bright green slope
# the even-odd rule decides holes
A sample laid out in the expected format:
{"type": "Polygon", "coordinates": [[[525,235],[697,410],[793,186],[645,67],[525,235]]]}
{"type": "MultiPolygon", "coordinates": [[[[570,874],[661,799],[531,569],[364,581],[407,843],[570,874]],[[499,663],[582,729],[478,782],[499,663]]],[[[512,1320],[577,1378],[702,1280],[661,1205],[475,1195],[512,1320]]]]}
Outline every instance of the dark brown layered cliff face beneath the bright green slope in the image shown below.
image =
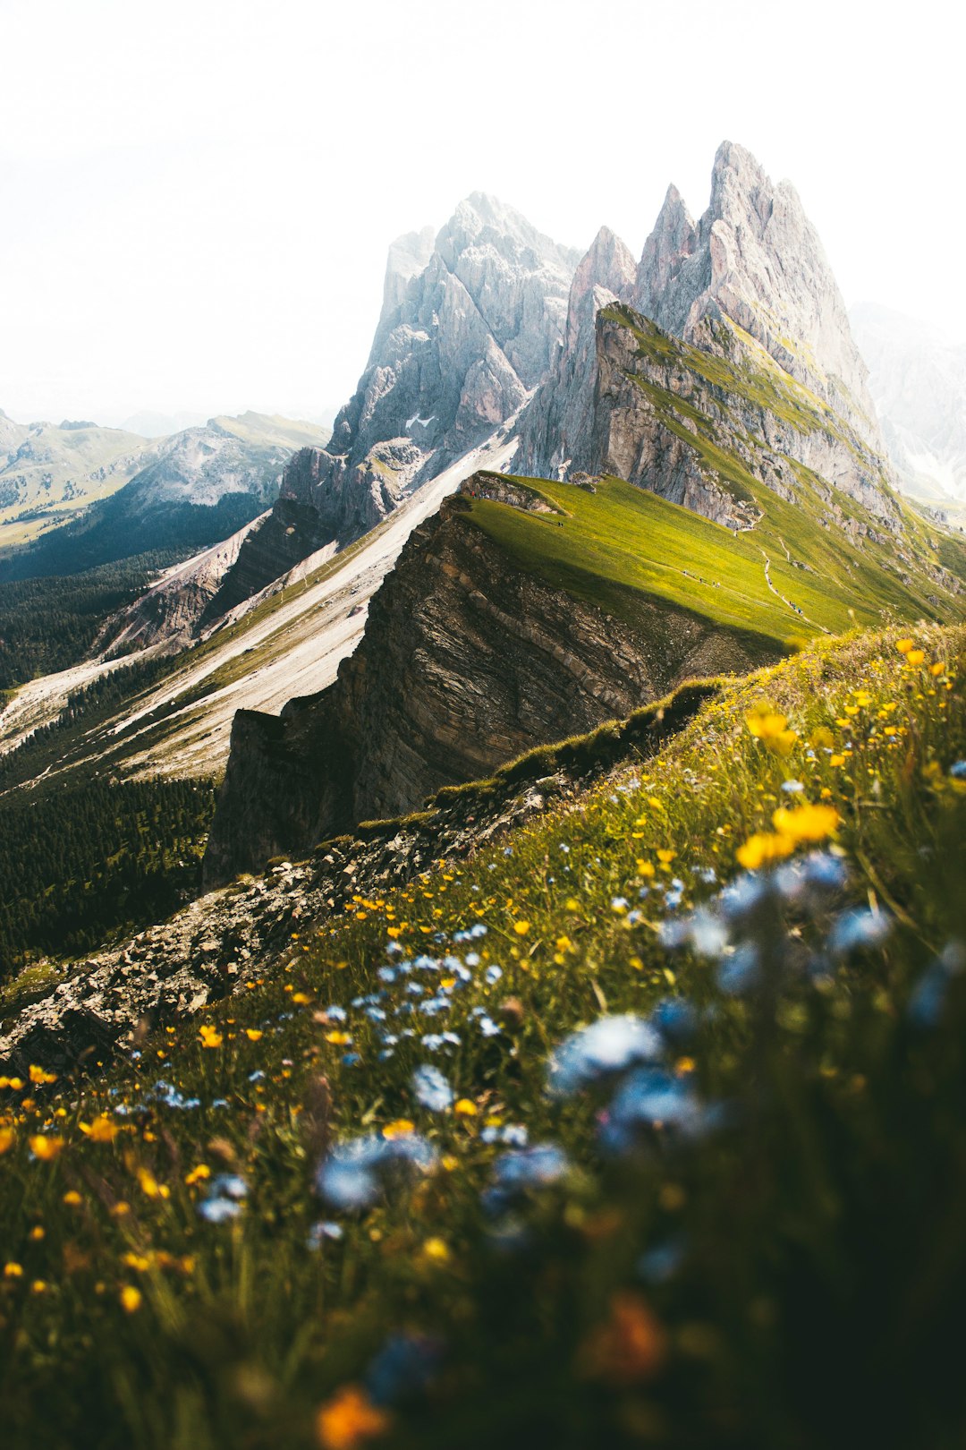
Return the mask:
{"type": "MultiPolygon", "coordinates": [[[[487,476],[465,489],[503,499],[503,480],[487,476]]],[[[330,689],[281,716],[236,715],[206,879],[306,854],[532,745],[627,715],[685,677],[752,664],[686,610],[642,600],[636,618],[631,626],[521,573],[458,496],[410,536],[330,689]]]]}

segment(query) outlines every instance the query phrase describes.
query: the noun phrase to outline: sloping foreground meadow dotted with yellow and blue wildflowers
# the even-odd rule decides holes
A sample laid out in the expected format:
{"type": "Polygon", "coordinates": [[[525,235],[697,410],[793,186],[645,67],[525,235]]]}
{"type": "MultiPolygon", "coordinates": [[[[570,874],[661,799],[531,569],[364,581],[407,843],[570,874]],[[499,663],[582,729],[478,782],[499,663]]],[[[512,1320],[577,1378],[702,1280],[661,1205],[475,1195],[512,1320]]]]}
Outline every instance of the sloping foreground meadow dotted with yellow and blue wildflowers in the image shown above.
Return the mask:
{"type": "Polygon", "coordinates": [[[16,1447],[966,1443],[966,629],[0,1079],[16,1447]]]}

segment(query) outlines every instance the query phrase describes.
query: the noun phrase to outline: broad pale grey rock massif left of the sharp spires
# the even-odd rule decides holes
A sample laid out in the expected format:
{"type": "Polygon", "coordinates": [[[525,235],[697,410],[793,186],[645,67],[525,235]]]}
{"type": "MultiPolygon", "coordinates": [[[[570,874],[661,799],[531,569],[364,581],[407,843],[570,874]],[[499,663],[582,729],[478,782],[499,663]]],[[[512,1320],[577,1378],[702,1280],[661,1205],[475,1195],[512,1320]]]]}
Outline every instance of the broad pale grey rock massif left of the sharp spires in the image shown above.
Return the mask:
{"type": "Polygon", "coordinates": [[[475,191],[432,241],[390,248],[366,368],[326,448],[293,463],[213,610],[323,544],[352,542],[504,426],[555,355],[579,252],[475,191]]]}

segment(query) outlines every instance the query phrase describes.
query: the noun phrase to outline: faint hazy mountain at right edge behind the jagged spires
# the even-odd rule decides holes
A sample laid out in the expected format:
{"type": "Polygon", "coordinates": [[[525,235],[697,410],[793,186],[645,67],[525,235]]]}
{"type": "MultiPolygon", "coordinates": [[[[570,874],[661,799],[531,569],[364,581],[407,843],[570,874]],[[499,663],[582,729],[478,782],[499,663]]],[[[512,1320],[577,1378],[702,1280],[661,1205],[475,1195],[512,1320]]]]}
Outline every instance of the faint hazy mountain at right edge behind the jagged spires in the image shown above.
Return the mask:
{"type": "Polygon", "coordinates": [[[966,345],[873,302],[850,316],[905,487],[938,506],[966,503],[966,345]]]}

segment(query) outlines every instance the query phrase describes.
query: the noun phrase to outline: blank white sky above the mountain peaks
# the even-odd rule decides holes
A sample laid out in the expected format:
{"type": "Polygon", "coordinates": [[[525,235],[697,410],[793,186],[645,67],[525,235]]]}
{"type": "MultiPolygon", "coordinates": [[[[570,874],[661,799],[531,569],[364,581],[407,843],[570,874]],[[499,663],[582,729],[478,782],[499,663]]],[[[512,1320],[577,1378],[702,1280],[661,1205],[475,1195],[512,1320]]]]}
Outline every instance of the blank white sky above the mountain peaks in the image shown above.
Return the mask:
{"type": "Polygon", "coordinates": [[[966,338],[962,7],[0,0],[0,407],[335,412],[385,249],[481,188],[640,252],[723,138],[849,303],[966,338]],[[956,13],[954,13],[956,12],[956,13]]]}

